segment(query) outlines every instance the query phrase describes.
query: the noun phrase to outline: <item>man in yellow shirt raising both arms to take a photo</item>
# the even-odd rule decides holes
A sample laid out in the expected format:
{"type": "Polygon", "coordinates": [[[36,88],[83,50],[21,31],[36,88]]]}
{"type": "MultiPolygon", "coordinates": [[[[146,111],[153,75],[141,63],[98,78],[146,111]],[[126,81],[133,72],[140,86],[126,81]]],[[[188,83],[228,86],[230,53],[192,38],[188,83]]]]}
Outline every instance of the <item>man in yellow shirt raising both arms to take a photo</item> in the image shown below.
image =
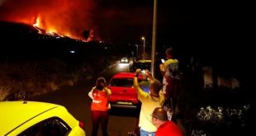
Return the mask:
{"type": "Polygon", "coordinates": [[[134,87],[137,93],[138,99],[141,101],[140,108],[140,136],[154,136],[157,128],[151,122],[150,114],[153,112],[154,108],[164,105],[164,94],[161,90],[162,84],[159,80],[154,79],[152,74],[147,70],[145,75],[150,79],[149,93],[143,91],[140,88],[138,82],[138,76],[141,73],[140,69],[136,69],[134,77],[134,87]]]}

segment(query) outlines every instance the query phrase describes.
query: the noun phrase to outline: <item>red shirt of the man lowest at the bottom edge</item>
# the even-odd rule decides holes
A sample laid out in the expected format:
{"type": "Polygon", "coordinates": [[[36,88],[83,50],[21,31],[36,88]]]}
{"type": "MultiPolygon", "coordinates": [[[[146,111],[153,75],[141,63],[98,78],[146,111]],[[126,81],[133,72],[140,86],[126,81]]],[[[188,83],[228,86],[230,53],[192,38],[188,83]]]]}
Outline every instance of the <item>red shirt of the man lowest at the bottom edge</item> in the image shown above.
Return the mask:
{"type": "Polygon", "coordinates": [[[183,132],[172,121],[167,121],[159,126],[155,136],[183,136],[183,132]]]}

